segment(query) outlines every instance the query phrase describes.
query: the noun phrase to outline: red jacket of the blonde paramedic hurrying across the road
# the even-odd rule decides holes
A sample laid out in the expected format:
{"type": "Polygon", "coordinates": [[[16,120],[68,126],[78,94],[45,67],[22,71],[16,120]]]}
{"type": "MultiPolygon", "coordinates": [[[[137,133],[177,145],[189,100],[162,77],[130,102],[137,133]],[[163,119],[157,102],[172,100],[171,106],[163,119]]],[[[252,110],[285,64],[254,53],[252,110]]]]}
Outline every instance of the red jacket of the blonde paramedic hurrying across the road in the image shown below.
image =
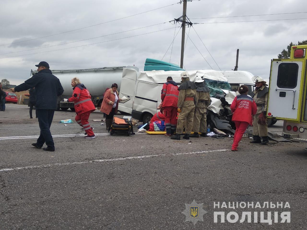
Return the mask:
{"type": "Polygon", "coordinates": [[[91,94],[83,84],[76,85],[73,90],[72,97],[68,99],[68,102],[75,102],[74,106],[77,115],[88,111],[95,111],[95,105],[92,102],[91,94]]]}

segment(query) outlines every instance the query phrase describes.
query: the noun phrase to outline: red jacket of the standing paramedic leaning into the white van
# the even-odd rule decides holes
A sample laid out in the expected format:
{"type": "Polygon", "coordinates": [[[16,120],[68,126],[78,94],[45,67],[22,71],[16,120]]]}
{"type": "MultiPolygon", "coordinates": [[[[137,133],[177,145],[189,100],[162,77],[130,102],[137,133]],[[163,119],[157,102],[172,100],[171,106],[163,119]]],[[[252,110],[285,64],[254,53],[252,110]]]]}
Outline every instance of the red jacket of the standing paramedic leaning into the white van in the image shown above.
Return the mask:
{"type": "Polygon", "coordinates": [[[161,101],[163,101],[162,108],[166,106],[173,106],[177,108],[179,90],[177,83],[168,81],[163,84],[161,90],[161,101]]]}

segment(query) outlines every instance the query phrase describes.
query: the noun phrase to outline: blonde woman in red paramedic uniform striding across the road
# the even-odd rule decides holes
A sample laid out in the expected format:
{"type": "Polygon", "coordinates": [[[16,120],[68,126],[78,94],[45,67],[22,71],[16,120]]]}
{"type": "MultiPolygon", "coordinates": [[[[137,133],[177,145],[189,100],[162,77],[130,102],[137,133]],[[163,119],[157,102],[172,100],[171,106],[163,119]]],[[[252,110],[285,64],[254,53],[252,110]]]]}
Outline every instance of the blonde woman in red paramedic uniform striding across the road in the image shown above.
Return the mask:
{"type": "Polygon", "coordinates": [[[73,78],[71,85],[74,90],[72,97],[64,99],[64,101],[75,102],[75,111],[77,114],[75,120],[87,133],[87,136],[84,138],[95,138],[93,128],[88,123],[88,118],[91,112],[95,111],[95,105],[92,102],[91,94],[88,92],[84,84],[81,84],[78,78],[73,78]]]}

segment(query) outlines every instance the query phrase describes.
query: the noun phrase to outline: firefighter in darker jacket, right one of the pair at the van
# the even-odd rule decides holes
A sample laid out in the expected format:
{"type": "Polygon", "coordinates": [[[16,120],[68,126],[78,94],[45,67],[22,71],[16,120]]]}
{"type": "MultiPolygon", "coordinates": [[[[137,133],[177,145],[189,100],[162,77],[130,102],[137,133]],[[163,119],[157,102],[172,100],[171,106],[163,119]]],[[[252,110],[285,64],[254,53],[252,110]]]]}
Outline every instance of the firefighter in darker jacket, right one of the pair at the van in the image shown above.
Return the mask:
{"type": "Polygon", "coordinates": [[[196,77],[195,80],[196,94],[198,97],[198,102],[196,104],[192,132],[194,132],[190,137],[199,137],[198,132],[201,132],[200,136],[207,136],[207,107],[211,103],[210,90],[205,85],[204,79],[201,77],[196,77]]]}

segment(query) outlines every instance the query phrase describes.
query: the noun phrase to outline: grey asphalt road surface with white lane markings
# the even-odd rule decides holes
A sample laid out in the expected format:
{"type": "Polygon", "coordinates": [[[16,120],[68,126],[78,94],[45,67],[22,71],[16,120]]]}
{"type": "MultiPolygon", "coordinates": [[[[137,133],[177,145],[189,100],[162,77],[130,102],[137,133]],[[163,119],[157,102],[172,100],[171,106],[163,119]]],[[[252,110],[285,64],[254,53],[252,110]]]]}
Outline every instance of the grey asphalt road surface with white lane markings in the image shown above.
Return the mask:
{"type": "MultiPolygon", "coordinates": [[[[76,122],[58,123],[74,118],[68,110],[55,112],[56,151],[45,152],[31,146],[39,127],[29,108],[6,106],[0,112],[0,229],[306,229],[306,144],[262,146],[243,138],[232,152],[232,138],[110,136],[98,121],[90,122],[97,137],[87,140],[76,122]],[[193,200],[207,212],[195,225],[182,213],[193,200]],[[214,202],[266,201],[290,208],[214,208],[214,202]],[[214,223],[216,211],[225,212],[225,223],[214,223]],[[268,211],[273,223],[260,223],[260,212],[266,219],[268,211]],[[290,223],[280,223],[284,211],[291,212],[290,223]],[[252,223],[229,223],[229,212],[239,220],[251,212],[252,223]]],[[[281,133],[282,122],[270,130],[281,133]]]]}

